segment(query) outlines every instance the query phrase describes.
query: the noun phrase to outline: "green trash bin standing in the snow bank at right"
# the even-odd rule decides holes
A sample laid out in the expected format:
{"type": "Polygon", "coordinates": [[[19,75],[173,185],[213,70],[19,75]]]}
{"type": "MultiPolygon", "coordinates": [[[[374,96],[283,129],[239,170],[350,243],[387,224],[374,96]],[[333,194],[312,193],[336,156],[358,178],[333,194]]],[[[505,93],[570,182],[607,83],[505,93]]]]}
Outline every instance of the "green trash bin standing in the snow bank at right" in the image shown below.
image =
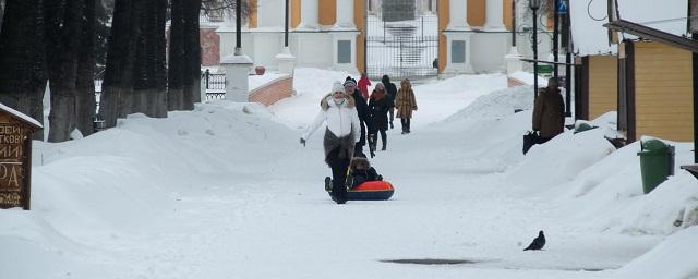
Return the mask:
{"type": "Polygon", "coordinates": [[[674,146],[659,140],[649,140],[640,144],[640,171],[645,194],[652,192],[669,175],[674,174],[674,146]]]}

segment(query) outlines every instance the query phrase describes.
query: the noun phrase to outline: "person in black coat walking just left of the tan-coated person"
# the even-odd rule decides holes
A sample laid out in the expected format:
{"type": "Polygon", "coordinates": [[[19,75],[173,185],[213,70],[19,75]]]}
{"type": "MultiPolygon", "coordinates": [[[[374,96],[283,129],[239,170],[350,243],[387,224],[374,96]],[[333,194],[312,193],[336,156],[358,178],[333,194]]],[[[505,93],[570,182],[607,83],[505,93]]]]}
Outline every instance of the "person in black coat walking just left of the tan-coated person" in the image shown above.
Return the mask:
{"type": "Polygon", "coordinates": [[[385,151],[387,145],[387,134],[385,131],[388,130],[389,109],[390,104],[385,93],[385,86],[382,83],[377,83],[369,100],[369,114],[371,118],[371,130],[369,131],[369,138],[371,141],[369,141],[369,144],[371,145],[371,150],[376,149],[380,132],[381,141],[383,142],[381,150],[385,151]]]}

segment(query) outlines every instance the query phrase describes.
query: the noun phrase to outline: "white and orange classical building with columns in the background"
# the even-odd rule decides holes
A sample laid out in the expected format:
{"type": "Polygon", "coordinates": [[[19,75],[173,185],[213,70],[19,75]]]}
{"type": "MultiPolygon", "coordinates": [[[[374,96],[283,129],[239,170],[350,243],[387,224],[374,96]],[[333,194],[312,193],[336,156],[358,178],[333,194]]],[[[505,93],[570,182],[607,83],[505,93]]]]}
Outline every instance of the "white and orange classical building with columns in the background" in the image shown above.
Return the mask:
{"type": "MultiPolygon", "coordinates": [[[[505,71],[505,57],[513,51],[514,0],[413,1],[418,17],[421,14],[437,17],[433,32],[438,40],[440,74],[505,71]]],[[[531,13],[528,1],[517,2],[516,49],[531,57],[530,32],[527,32],[531,13]]],[[[277,70],[277,56],[284,51],[285,0],[251,0],[251,3],[256,9],[243,23],[242,48],[255,66],[277,70]]],[[[366,61],[376,59],[366,57],[366,22],[371,16],[380,16],[381,7],[381,0],[290,0],[289,49],[296,64],[350,73],[365,71],[366,61]]],[[[543,28],[549,29],[545,26],[551,21],[541,22],[543,28]]],[[[236,46],[233,21],[216,32],[220,35],[220,57],[227,57],[236,46]]],[[[539,33],[539,58],[543,60],[551,49],[550,37],[539,33]]]]}

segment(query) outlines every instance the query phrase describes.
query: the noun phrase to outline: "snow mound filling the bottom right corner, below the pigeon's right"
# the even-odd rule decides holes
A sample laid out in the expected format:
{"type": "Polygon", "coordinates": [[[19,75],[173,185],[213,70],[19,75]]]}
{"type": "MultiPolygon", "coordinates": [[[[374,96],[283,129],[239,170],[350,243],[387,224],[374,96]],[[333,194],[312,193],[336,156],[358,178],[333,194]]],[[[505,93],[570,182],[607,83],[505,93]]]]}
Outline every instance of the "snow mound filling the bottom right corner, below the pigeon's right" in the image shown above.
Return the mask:
{"type": "Polygon", "coordinates": [[[613,278],[698,278],[696,240],[698,240],[698,227],[693,227],[671,235],[652,251],[624,266],[613,278]]]}

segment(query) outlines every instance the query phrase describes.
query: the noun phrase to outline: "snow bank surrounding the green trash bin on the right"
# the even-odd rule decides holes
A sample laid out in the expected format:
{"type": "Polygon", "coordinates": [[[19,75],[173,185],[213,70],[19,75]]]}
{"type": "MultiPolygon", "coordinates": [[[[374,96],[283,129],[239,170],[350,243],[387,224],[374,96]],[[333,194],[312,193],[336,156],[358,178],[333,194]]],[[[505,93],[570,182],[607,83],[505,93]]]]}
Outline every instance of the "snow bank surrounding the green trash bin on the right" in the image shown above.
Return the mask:
{"type": "Polygon", "coordinates": [[[639,142],[627,145],[579,173],[570,184],[571,214],[598,231],[627,234],[670,234],[696,225],[698,181],[679,166],[691,163],[693,144],[676,147],[673,177],[649,194],[642,192],[639,142]],[[585,205],[594,204],[593,207],[585,205]],[[571,208],[586,208],[575,210],[571,208]]]}

